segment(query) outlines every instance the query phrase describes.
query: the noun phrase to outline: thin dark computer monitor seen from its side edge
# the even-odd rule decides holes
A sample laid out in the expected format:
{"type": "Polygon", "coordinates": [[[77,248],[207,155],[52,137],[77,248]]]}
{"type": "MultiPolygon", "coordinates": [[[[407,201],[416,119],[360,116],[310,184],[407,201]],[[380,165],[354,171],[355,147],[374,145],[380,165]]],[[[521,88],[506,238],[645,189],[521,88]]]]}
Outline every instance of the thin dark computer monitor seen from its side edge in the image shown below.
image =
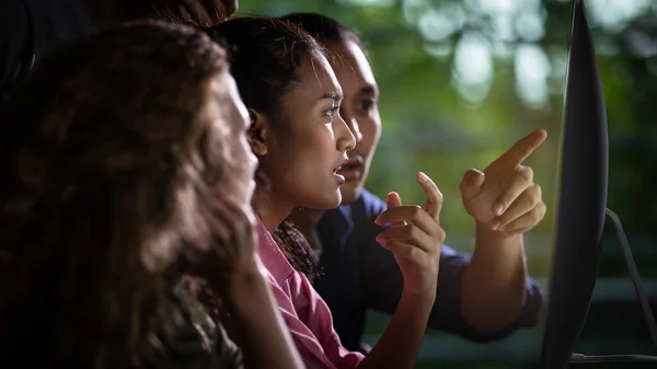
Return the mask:
{"type": "Polygon", "coordinates": [[[555,249],[541,367],[566,368],[593,295],[607,207],[607,113],[584,11],[573,3],[561,132],[555,249]]]}

